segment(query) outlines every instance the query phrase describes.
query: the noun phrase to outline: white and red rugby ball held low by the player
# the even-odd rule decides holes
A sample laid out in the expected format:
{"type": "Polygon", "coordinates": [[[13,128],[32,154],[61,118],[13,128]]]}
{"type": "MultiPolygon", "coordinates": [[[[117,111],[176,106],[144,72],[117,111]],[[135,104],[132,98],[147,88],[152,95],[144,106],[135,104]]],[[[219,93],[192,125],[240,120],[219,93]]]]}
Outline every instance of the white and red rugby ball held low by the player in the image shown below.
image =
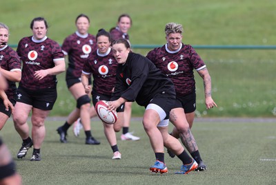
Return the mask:
{"type": "Polygon", "coordinates": [[[117,111],[108,110],[108,101],[99,100],[99,102],[96,103],[95,109],[97,115],[103,122],[106,122],[107,124],[115,124],[115,122],[117,122],[117,111]]]}

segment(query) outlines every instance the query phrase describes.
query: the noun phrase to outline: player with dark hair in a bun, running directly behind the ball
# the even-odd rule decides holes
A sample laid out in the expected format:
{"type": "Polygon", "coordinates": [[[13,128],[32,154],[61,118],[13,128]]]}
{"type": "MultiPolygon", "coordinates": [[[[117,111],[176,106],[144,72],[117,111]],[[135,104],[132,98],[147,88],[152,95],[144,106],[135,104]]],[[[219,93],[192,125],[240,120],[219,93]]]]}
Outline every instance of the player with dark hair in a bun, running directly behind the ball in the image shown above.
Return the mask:
{"type": "MultiPolygon", "coordinates": [[[[91,92],[88,85],[89,76],[92,75],[92,102],[95,106],[99,100],[109,101],[115,85],[117,62],[111,52],[111,36],[106,30],[99,30],[96,36],[97,50],[86,59],[81,74],[81,82],[86,94],[91,92]]],[[[117,109],[118,120],[115,124],[103,122],[103,131],[106,135],[112,152],[113,160],[121,159],[121,153],[117,146],[116,133],[121,130],[124,121],[124,104],[117,109]]]]}

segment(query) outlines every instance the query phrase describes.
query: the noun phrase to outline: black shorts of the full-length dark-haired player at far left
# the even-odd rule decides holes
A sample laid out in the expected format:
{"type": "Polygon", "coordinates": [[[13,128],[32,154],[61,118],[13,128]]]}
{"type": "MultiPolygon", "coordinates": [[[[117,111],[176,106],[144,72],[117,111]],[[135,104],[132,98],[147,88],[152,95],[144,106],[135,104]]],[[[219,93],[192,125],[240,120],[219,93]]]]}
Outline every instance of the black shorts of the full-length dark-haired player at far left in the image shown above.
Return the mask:
{"type": "Polygon", "coordinates": [[[17,89],[17,102],[23,102],[44,111],[52,110],[57,100],[57,89],[28,90],[23,87],[17,89]]]}

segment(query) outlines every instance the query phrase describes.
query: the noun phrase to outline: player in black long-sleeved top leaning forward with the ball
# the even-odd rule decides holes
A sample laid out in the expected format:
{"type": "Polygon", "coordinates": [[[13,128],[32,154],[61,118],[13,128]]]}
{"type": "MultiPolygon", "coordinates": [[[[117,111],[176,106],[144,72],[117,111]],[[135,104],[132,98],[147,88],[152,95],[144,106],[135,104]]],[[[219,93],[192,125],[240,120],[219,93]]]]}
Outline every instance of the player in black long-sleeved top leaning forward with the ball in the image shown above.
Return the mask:
{"type": "Polygon", "coordinates": [[[197,162],[186,153],[179,140],[168,134],[168,118],[176,101],[172,81],[148,58],[130,52],[126,39],[114,41],[112,53],[119,65],[109,109],[115,110],[127,101],[136,101],[146,108],[143,125],[156,157],[150,171],[168,172],[164,163],[164,146],[176,153],[183,162],[178,173],[193,171],[197,168],[197,162]]]}

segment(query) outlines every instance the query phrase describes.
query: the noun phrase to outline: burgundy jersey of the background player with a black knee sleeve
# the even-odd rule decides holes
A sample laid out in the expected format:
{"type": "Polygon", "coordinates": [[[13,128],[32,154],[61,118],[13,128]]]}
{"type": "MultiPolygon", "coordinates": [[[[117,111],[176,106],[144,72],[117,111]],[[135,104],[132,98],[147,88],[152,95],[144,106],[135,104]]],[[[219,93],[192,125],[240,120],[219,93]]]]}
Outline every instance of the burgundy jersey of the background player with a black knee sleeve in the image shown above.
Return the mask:
{"type": "Polygon", "coordinates": [[[97,49],[96,38],[92,34],[83,36],[75,32],[63,41],[61,49],[65,55],[68,55],[67,75],[80,78],[84,61],[97,49]]]}

